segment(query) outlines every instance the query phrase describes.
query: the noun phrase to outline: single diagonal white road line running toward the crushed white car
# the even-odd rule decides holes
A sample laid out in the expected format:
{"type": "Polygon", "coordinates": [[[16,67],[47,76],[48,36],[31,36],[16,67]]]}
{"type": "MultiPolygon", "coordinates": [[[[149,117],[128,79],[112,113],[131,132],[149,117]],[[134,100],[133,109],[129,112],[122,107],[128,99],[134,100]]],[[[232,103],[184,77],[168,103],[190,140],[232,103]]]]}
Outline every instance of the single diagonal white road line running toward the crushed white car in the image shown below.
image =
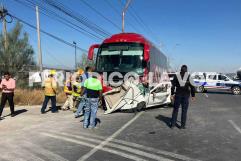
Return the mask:
{"type": "Polygon", "coordinates": [[[105,145],[107,145],[110,141],[112,141],[115,137],[117,137],[123,130],[125,130],[128,126],[130,126],[136,119],[138,119],[144,112],[138,113],[134,118],[128,121],[124,126],[122,126],[119,130],[117,130],[114,134],[109,136],[106,140],[101,142],[98,146],[95,146],[90,152],[82,156],[78,161],[85,161],[89,157],[91,157],[95,152],[102,149],[105,145]]]}

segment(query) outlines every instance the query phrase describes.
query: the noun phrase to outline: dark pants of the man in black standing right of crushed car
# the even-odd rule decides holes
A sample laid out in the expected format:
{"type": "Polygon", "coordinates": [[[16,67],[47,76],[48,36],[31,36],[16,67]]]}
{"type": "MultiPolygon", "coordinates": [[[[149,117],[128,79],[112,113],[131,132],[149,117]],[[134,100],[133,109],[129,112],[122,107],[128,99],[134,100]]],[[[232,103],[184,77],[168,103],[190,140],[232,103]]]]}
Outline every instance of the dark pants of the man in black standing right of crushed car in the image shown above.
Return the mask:
{"type": "Polygon", "coordinates": [[[187,120],[187,110],[189,106],[189,96],[175,96],[171,124],[172,126],[175,126],[177,122],[178,109],[180,105],[182,106],[181,126],[185,127],[187,120]]]}

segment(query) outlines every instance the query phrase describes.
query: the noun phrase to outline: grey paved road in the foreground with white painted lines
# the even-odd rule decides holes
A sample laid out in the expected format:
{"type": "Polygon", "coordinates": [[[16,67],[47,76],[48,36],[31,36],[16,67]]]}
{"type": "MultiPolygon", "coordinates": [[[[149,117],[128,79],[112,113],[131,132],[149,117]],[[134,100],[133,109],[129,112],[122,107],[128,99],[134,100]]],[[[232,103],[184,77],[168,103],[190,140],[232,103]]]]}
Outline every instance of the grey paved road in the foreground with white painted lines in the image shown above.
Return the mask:
{"type": "MultiPolygon", "coordinates": [[[[39,114],[39,107],[0,121],[0,160],[218,160],[241,158],[241,96],[198,94],[188,128],[170,129],[171,108],[137,115],[103,115],[98,129],[85,130],[70,111],[39,114]]],[[[5,115],[8,114],[5,110],[5,115]]]]}

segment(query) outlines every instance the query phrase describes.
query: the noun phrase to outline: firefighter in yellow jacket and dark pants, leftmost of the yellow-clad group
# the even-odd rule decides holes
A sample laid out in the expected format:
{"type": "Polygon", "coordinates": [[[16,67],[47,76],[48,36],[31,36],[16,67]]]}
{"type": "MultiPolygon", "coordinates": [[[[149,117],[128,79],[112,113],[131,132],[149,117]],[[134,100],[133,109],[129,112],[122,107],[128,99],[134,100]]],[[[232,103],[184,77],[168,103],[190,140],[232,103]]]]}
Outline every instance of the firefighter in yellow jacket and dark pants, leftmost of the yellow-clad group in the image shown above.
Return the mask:
{"type": "Polygon", "coordinates": [[[44,98],[43,106],[41,108],[42,114],[46,113],[45,109],[48,105],[49,100],[51,100],[51,104],[52,104],[52,107],[51,107],[52,113],[58,112],[58,109],[56,107],[57,82],[54,79],[54,74],[55,74],[55,71],[50,71],[48,78],[44,82],[45,98],[44,98]]]}

